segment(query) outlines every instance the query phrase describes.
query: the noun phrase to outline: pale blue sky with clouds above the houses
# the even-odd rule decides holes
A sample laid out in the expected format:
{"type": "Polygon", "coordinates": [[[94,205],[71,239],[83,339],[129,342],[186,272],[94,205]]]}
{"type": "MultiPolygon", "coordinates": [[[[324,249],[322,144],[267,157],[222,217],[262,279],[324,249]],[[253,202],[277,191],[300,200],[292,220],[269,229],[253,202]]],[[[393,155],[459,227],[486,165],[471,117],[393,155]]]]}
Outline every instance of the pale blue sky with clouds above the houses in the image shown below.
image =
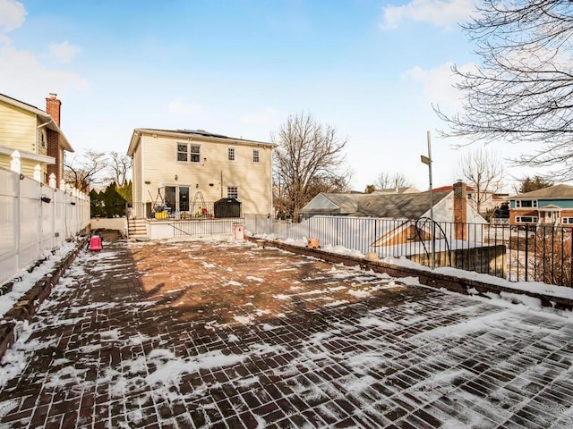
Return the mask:
{"type": "MultiPolygon", "coordinates": [[[[432,103],[459,107],[452,63],[478,59],[459,30],[469,0],[0,0],[0,93],[62,100],[78,153],[125,152],[134,128],[269,141],[289,114],[347,137],[352,185],[381,172],[428,188],[458,179],[469,149],[438,139],[432,103]]],[[[488,147],[500,157],[525,147],[488,147]]],[[[511,176],[524,170],[508,168],[511,176]]]]}

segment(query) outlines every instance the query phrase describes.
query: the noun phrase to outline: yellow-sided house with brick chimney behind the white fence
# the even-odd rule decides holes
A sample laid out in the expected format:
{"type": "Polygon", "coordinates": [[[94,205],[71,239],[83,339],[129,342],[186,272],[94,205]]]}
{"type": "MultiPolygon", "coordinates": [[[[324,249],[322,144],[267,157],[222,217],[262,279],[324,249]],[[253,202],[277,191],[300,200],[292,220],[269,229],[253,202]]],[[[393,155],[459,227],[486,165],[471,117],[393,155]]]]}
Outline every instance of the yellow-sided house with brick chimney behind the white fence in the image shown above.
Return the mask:
{"type": "Polygon", "coordinates": [[[24,176],[34,177],[39,165],[40,181],[48,183],[54,173],[59,186],[64,177],[64,151],[73,152],[60,130],[61,105],[56,94],[46,98],[46,111],[0,94],[0,166],[10,169],[12,154],[18,150],[24,176]]]}

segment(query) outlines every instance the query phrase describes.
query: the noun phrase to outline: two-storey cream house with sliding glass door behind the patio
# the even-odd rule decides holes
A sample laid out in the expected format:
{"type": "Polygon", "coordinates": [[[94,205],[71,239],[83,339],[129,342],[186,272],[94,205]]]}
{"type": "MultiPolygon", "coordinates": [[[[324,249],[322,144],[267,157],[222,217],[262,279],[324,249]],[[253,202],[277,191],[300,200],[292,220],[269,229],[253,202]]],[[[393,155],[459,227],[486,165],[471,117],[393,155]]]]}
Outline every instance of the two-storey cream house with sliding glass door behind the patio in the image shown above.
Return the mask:
{"type": "Polygon", "coordinates": [[[204,130],[137,128],[133,157],[133,209],[150,217],[158,201],[175,213],[227,198],[242,214],[272,213],[272,143],[235,139],[204,130]]]}

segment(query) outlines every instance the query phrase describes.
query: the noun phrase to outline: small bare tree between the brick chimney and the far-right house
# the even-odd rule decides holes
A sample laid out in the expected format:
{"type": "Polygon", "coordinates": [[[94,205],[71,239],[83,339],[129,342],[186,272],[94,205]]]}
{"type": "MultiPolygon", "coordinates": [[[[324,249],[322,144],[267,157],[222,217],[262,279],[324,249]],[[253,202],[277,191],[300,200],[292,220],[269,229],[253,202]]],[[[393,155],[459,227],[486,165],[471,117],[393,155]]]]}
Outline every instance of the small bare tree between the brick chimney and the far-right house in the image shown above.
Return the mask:
{"type": "Polygon", "coordinates": [[[461,158],[459,173],[475,189],[475,208],[482,213],[482,206],[502,186],[503,164],[500,156],[483,148],[468,152],[461,158]]]}

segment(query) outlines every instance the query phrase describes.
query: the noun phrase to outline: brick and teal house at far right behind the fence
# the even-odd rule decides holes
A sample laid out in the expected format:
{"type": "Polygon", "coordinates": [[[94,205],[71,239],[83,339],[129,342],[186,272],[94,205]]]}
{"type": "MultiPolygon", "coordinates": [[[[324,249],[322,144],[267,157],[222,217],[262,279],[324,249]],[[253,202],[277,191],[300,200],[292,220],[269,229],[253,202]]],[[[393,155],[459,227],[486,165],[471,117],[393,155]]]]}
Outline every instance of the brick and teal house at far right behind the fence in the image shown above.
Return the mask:
{"type": "Polygon", "coordinates": [[[509,197],[509,224],[569,226],[573,224],[573,186],[554,185],[509,197]]]}

